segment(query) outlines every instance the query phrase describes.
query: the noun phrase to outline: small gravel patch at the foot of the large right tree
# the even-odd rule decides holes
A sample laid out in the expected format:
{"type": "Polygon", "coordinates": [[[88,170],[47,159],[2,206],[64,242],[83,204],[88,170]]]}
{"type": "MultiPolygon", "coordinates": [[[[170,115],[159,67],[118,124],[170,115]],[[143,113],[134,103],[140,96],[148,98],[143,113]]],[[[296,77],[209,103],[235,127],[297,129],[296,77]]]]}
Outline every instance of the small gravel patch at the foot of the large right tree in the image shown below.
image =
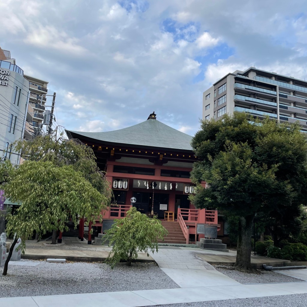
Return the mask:
{"type": "MultiPolygon", "coordinates": [[[[272,271],[257,270],[256,273],[246,273],[235,270],[232,266],[213,265],[224,275],[242,284],[255,284],[266,282],[301,282],[301,279],[286,276],[272,271]]],[[[307,305],[307,303],[306,303],[307,305]]]]}

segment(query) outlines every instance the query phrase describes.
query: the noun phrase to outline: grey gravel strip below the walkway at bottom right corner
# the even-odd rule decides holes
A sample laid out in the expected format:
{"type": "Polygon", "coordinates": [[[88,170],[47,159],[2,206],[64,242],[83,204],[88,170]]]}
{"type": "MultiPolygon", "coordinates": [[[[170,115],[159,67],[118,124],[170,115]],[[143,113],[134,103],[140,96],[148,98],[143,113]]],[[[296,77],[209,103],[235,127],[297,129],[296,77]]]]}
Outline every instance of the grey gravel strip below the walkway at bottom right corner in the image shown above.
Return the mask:
{"type": "MultiPolygon", "coordinates": [[[[289,294],[266,297],[238,298],[234,300],[207,301],[163,305],[163,307],[306,307],[307,294],[289,294]]],[[[149,306],[147,306],[149,307],[149,306]]]]}

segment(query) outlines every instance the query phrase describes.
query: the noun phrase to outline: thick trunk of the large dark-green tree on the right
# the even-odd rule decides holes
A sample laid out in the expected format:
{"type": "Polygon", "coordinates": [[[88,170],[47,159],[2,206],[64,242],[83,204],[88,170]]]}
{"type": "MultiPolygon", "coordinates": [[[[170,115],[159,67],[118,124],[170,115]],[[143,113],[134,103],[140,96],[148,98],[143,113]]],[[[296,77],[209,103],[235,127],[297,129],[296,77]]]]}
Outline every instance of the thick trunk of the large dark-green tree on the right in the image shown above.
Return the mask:
{"type": "Polygon", "coordinates": [[[234,266],[251,270],[251,235],[254,216],[239,218],[237,258],[234,266]]]}

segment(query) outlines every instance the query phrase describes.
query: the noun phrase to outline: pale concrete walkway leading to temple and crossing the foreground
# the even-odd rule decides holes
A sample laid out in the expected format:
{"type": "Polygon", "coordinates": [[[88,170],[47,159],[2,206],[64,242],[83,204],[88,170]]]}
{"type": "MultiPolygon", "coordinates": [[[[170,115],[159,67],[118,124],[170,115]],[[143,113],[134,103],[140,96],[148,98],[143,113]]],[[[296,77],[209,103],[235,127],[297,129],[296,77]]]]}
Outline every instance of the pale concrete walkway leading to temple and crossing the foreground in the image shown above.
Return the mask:
{"type": "MultiPolygon", "coordinates": [[[[6,297],[0,298],[0,306],[94,307],[103,304],[106,307],[137,307],[307,293],[305,281],[243,285],[216,271],[198,253],[181,248],[159,249],[158,253],[152,255],[161,270],[181,287],[178,289],[6,297]]],[[[307,270],[281,273],[307,279],[307,270]]]]}

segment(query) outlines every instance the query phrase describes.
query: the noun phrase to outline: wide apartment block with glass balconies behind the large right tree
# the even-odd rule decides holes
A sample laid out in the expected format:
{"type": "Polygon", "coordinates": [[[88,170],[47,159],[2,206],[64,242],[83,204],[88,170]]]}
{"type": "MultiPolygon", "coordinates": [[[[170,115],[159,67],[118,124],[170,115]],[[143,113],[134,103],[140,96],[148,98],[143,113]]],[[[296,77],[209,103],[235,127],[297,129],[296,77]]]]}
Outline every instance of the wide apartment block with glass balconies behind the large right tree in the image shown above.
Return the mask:
{"type": "Polygon", "coordinates": [[[299,121],[307,132],[307,81],[250,67],[228,73],[203,93],[203,119],[234,111],[281,122],[299,121]]]}

